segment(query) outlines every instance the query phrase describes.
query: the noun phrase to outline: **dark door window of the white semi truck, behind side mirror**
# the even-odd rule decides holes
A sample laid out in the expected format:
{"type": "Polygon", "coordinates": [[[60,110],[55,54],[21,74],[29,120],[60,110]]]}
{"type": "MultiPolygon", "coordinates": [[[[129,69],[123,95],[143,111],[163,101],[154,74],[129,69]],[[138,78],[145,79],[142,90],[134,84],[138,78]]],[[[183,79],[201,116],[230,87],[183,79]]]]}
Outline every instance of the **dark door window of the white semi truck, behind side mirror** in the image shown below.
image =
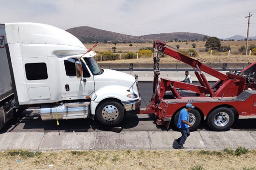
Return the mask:
{"type": "MultiPolygon", "coordinates": [[[[64,60],[64,65],[65,65],[65,70],[66,70],[66,75],[67,76],[76,76],[75,74],[75,64],[69,62],[68,60],[64,60]]],[[[83,65],[83,77],[84,78],[89,78],[91,77],[90,73],[88,72],[86,66],[83,65]]]]}

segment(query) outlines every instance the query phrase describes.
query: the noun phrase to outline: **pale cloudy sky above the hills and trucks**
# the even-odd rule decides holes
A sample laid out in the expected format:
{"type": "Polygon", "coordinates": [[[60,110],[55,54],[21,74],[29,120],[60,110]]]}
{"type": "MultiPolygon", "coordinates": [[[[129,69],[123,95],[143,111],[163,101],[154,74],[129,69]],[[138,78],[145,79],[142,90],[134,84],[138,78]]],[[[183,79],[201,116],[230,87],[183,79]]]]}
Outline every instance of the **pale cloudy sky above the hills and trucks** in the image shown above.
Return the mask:
{"type": "Polygon", "coordinates": [[[256,36],[256,0],[0,0],[0,23],[91,26],[122,34],[192,32],[256,36]]]}

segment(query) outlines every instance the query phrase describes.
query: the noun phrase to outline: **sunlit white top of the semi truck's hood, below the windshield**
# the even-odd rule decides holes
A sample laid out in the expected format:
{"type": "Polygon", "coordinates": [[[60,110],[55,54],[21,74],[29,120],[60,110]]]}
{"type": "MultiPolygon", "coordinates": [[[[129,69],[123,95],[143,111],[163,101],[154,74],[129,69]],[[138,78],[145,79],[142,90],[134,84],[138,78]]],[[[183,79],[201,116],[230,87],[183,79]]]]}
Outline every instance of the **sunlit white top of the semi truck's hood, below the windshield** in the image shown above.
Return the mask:
{"type": "Polygon", "coordinates": [[[111,69],[103,69],[104,72],[101,75],[94,76],[95,82],[105,81],[105,82],[119,82],[126,83],[128,86],[131,86],[135,81],[135,78],[127,73],[120,71],[115,71],[111,69]]]}

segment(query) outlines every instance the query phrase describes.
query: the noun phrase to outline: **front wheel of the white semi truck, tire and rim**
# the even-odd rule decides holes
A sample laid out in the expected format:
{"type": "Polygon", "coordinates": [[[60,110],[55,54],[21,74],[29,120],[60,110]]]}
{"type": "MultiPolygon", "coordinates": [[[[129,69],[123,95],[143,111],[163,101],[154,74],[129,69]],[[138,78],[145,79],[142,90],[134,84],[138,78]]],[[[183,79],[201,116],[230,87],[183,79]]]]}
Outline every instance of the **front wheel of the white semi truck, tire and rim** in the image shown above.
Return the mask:
{"type": "Polygon", "coordinates": [[[116,101],[105,101],[96,111],[100,123],[114,126],[122,121],[125,115],[124,106],[116,101]]]}

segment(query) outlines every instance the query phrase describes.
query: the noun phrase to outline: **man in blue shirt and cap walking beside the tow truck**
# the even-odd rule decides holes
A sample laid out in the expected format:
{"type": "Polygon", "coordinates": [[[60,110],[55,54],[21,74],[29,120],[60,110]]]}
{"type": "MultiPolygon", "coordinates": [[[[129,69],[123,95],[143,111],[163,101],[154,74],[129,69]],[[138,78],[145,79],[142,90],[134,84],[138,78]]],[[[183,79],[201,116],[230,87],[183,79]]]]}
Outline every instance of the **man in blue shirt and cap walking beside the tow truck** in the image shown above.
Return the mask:
{"type": "Polygon", "coordinates": [[[180,112],[180,116],[178,119],[177,127],[181,131],[182,136],[177,140],[179,144],[179,149],[186,149],[183,144],[185,144],[186,138],[190,135],[188,126],[192,127],[193,125],[189,123],[189,114],[188,112],[195,108],[191,103],[186,104],[185,108],[183,108],[180,112]]]}

